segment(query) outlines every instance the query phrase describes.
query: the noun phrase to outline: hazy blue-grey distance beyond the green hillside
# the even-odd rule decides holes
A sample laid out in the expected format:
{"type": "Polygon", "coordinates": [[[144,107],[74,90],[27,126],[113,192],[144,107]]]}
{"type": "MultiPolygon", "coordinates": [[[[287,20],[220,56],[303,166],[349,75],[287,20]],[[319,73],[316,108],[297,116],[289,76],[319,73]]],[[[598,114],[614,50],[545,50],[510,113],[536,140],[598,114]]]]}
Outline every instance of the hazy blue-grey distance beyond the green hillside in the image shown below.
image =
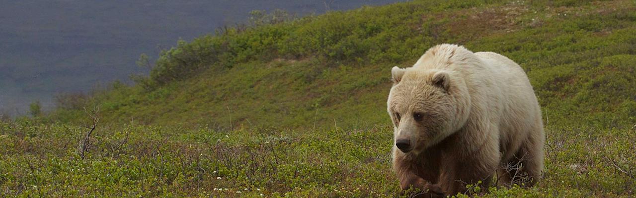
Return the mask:
{"type": "Polygon", "coordinates": [[[141,53],[156,58],[181,38],[245,22],[249,11],[277,8],[299,16],[404,0],[214,1],[4,1],[0,0],[0,110],[45,110],[61,92],[86,92],[96,84],[144,71],[141,53]]]}

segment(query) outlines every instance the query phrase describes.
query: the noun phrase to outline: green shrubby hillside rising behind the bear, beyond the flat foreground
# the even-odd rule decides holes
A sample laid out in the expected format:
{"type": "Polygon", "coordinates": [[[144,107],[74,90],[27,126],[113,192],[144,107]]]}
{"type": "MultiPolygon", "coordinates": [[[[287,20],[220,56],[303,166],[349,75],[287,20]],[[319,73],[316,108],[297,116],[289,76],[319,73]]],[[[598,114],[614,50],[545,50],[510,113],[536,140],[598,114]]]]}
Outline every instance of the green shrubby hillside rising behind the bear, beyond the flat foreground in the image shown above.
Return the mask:
{"type": "Polygon", "coordinates": [[[520,63],[555,123],[635,122],[636,89],[623,86],[635,84],[633,3],[565,5],[402,3],[202,37],[164,55],[153,72],[155,79],[188,78],[149,90],[120,88],[94,103],[115,123],[225,129],[389,124],[384,100],[392,65],[408,67],[434,44],[459,43],[520,63]],[[202,69],[188,75],[166,67],[202,69]]]}

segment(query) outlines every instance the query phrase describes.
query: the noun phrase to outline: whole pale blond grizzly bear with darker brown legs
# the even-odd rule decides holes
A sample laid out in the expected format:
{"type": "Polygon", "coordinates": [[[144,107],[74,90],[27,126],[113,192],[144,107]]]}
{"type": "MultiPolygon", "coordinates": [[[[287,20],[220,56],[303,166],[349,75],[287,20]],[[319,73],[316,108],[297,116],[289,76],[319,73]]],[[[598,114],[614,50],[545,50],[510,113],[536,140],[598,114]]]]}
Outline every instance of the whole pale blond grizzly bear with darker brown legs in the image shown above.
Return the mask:
{"type": "Polygon", "coordinates": [[[454,195],[469,184],[486,189],[494,179],[529,187],[541,178],[541,109],[515,62],[441,44],[391,73],[387,109],[402,189],[454,195]]]}

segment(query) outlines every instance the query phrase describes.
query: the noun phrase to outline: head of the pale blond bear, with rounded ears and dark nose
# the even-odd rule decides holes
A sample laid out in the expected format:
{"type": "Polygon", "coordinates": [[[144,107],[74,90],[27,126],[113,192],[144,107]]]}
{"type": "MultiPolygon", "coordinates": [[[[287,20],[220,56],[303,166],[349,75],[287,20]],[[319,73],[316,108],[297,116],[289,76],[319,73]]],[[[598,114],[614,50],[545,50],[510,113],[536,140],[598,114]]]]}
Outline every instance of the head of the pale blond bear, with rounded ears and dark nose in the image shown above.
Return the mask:
{"type": "Polygon", "coordinates": [[[397,149],[419,154],[459,130],[469,103],[466,85],[452,72],[438,69],[392,69],[387,108],[397,149]]]}

